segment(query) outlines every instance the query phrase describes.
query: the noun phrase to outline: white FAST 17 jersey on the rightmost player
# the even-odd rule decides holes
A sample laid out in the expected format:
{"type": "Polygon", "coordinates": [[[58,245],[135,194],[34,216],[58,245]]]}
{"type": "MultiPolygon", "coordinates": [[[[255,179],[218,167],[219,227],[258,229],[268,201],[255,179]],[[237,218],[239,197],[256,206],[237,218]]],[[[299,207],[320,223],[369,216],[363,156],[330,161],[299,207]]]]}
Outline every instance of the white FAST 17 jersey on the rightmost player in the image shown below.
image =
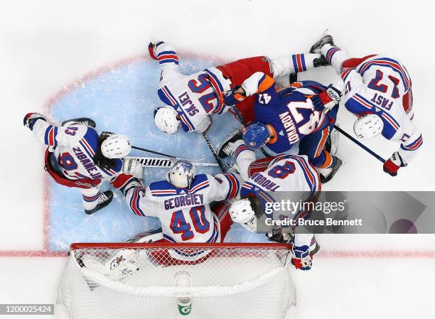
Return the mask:
{"type": "Polygon", "coordinates": [[[399,154],[409,163],[423,138],[412,121],[412,82],[404,65],[385,55],[372,55],[356,67],[343,67],[341,77],[345,107],[358,115],[377,114],[384,122],[382,136],[398,141],[399,154]]]}

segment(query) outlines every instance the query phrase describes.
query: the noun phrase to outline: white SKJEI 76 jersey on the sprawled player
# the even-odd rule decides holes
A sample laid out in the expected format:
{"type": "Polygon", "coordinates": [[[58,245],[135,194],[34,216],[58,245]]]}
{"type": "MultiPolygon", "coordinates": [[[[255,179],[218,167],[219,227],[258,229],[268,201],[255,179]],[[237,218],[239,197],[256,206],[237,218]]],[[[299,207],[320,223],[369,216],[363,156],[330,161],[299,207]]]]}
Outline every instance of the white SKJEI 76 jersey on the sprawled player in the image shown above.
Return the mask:
{"type": "Polygon", "coordinates": [[[161,101],[176,109],[184,131],[207,131],[212,124],[210,115],[229,109],[223,103],[222,92],[230,90],[230,80],[216,67],[182,75],[178,71],[178,55],[166,43],[157,45],[154,53],[161,66],[161,101]]]}

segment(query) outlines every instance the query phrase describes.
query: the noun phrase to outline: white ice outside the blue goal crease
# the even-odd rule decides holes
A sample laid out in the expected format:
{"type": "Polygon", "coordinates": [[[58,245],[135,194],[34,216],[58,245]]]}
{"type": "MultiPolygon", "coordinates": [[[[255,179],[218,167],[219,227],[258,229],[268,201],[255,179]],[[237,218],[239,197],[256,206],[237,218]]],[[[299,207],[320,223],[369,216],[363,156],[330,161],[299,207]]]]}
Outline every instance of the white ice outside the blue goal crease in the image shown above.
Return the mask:
{"type": "MultiPolygon", "coordinates": [[[[345,165],[326,189],[434,190],[434,23],[427,4],[258,0],[1,2],[0,250],[43,247],[43,148],[23,129],[23,115],[43,112],[53,94],[85,73],[146,53],[151,38],[173,43],[180,51],[234,60],[307,50],[329,28],[335,42],[351,55],[394,53],[407,65],[412,77],[415,121],[423,131],[424,146],[412,165],[399,171],[397,178],[390,178],[382,173],[380,163],[343,138],[340,156],[345,158],[345,165]]],[[[340,112],[340,124],[350,131],[350,114],[340,112]]],[[[397,147],[382,139],[367,145],[383,156],[397,147]]],[[[329,236],[321,237],[321,243],[326,251],[434,251],[434,239],[329,236]]],[[[53,302],[64,261],[54,257],[0,257],[0,303],[53,302]]],[[[434,266],[433,258],[315,259],[311,271],[295,273],[298,318],[434,318],[434,266]]]]}

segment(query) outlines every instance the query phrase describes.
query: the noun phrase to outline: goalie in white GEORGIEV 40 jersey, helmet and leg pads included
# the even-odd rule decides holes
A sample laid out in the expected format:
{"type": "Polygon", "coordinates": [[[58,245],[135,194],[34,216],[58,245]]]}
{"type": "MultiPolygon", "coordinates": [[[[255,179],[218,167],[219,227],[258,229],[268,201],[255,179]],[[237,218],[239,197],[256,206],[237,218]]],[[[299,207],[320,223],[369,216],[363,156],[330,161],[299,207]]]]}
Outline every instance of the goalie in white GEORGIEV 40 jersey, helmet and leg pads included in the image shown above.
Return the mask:
{"type": "MultiPolygon", "coordinates": [[[[129,160],[140,166],[140,163],[129,160]]],[[[240,175],[225,173],[215,176],[195,175],[195,167],[188,161],[176,161],[168,171],[166,180],[151,183],[148,187],[133,176],[125,176],[120,188],[134,214],[158,217],[161,229],[137,234],[128,242],[223,242],[232,226],[228,212],[231,200],[239,195],[240,175]]],[[[170,250],[162,254],[149,254],[155,264],[171,266],[188,262],[200,262],[210,251],[192,256],[170,250]]],[[[92,256],[82,259],[87,267],[99,269],[113,279],[132,274],[136,266],[134,252],[125,249],[101,264],[92,256]]]]}

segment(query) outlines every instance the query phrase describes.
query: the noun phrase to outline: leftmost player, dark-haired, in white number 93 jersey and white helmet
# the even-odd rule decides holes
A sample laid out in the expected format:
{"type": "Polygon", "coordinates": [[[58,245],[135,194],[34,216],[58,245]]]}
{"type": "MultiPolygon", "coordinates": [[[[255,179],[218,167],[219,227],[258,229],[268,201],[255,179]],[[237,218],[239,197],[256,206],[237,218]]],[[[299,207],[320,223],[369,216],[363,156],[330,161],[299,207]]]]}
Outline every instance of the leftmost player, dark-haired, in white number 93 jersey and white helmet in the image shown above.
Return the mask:
{"type": "Polygon", "coordinates": [[[91,119],[72,119],[62,126],[54,126],[43,115],[28,113],[24,126],[48,146],[45,171],[56,183],[80,189],[87,214],[101,210],[112,201],[112,190],[100,193],[104,180],[117,185],[119,176],[131,173],[121,159],[131,150],[127,136],[107,132],[99,135],[91,119]]]}

